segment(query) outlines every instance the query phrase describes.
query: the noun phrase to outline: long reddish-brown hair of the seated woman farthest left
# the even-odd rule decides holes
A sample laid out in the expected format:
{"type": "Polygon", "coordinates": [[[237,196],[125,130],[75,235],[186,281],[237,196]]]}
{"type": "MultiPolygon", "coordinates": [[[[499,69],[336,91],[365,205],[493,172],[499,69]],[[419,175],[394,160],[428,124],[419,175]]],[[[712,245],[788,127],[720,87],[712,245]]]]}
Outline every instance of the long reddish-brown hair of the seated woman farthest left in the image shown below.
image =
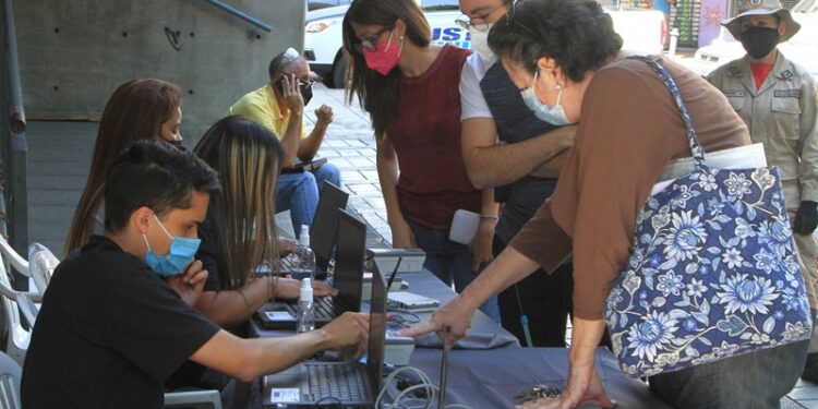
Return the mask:
{"type": "Polygon", "coordinates": [[[99,121],[88,180],[74,212],[65,254],[88,240],[94,214],[103,201],[105,177],[113,160],[134,141],[158,137],[163,122],[181,104],[179,86],[161,80],[132,80],[113,92],[99,121]]]}

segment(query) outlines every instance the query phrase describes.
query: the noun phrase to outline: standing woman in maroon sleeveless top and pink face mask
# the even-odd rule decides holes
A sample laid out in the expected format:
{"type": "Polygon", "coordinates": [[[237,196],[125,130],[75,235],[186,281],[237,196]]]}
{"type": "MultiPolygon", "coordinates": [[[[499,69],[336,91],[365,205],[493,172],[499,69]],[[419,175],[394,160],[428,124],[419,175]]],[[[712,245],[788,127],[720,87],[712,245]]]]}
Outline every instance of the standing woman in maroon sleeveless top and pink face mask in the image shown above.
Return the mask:
{"type": "MultiPolygon", "coordinates": [[[[462,290],[491,257],[493,227],[469,248],[448,240],[457,209],[496,219],[491,191],[471,185],[460,153],[460,70],[469,51],[431,45],[413,0],[357,0],[344,17],[349,103],[372,117],[377,175],[396,248],[421,248],[424,266],[462,290]]],[[[486,224],[480,224],[486,225],[486,224]]],[[[496,303],[484,310],[497,316],[496,303]]],[[[486,305],[488,306],[488,305],[486,305]]]]}

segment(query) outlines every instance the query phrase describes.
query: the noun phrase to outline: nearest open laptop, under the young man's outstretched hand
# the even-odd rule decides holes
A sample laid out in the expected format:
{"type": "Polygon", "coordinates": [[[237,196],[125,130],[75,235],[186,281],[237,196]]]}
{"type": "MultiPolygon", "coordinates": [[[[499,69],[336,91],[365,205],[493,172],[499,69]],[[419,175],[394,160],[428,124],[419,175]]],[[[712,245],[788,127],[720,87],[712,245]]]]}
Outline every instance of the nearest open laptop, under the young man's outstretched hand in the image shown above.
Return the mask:
{"type": "Polygon", "coordinates": [[[386,287],[375,268],[372,279],[366,363],[303,362],[264,377],[266,407],[372,407],[381,389],[386,337],[386,287]]]}

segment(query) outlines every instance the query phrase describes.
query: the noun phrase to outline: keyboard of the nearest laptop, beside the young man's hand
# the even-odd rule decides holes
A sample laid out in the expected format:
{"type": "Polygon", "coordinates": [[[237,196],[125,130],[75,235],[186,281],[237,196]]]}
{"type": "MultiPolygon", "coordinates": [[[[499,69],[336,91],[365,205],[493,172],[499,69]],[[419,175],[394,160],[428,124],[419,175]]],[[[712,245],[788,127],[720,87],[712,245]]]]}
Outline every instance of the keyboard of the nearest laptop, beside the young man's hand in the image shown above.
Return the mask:
{"type": "Polygon", "coordinates": [[[325,365],[304,363],[310,378],[310,395],[312,401],[334,397],[341,401],[365,401],[366,381],[363,378],[362,366],[357,365],[325,365]]]}

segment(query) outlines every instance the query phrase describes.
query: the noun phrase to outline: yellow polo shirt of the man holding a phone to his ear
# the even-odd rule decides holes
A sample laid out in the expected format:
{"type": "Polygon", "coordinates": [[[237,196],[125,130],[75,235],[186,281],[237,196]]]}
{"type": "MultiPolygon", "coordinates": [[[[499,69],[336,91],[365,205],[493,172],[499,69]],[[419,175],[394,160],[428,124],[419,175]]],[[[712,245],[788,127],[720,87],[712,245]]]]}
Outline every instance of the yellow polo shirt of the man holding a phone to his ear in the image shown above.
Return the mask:
{"type": "MultiPolygon", "coordinates": [[[[241,97],[227,110],[227,115],[242,116],[258,123],[273,132],[279,141],[287,133],[287,125],[290,124],[290,111],[287,110],[285,115],[281,115],[270,83],[241,97]]],[[[302,140],[309,136],[304,122],[305,120],[301,122],[302,140]]]]}

